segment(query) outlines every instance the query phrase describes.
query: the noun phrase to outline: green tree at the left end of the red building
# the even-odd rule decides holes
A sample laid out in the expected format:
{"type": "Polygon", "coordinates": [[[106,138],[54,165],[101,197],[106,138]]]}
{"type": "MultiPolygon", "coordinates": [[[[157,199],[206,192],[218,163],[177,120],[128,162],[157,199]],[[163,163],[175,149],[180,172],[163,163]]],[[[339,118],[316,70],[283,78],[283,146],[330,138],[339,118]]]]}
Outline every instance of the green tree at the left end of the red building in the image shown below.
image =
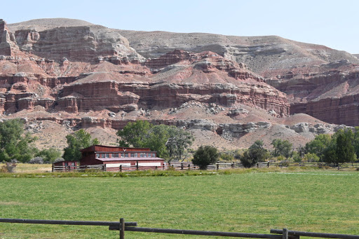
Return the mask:
{"type": "Polygon", "coordinates": [[[94,144],[100,144],[97,138],[91,139],[91,135],[81,129],[71,135],[66,135],[67,147],[64,149],[65,161],[79,161],[82,157],[80,149],[85,149],[94,144]]]}

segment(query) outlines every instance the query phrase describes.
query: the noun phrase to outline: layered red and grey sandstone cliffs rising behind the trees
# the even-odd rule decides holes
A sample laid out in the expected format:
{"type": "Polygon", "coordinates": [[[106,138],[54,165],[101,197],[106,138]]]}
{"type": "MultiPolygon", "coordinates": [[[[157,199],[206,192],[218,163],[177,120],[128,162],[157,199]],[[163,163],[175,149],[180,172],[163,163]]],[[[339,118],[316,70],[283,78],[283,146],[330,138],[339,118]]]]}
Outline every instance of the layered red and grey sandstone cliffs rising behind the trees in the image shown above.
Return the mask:
{"type": "Polygon", "coordinates": [[[299,146],[339,128],[323,121],[359,124],[358,64],[348,53],[278,36],[0,21],[0,111],[46,134],[43,144],[60,135],[56,146],[79,128],[114,144],[116,130],[138,119],[190,130],[196,146],[263,139],[269,147],[276,137],[299,146]]]}

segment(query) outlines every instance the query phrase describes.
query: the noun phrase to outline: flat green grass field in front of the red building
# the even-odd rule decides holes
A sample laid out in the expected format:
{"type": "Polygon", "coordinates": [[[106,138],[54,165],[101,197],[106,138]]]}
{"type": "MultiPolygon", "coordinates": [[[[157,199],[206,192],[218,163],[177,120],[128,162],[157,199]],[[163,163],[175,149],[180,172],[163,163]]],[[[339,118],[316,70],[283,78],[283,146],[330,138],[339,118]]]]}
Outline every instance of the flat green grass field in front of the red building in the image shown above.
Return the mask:
{"type": "MultiPolygon", "coordinates": [[[[139,226],[359,235],[359,172],[184,177],[0,178],[0,217],[137,221],[139,226]]],[[[118,238],[106,226],[0,223],[0,238],[118,238]]],[[[126,238],[209,238],[126,232],[126,238]]],[[[216,238],[216,237],[212,237],[216,238]]]]}

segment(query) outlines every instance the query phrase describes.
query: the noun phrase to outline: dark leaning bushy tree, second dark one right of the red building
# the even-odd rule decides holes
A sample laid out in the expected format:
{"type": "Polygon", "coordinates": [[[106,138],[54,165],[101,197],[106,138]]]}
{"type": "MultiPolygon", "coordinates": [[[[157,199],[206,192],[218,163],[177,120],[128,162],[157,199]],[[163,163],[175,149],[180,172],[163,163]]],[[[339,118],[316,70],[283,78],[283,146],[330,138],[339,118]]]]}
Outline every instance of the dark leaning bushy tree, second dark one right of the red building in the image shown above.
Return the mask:
{"type": "Polygon", "coordinates": [[[242,165],[245,168],[250,168],[256,163],[264,162],[268,157],[268,151],[263,147],[262,140],[257,140],[250,148],[243,153],[240,158],[242,165]]]}

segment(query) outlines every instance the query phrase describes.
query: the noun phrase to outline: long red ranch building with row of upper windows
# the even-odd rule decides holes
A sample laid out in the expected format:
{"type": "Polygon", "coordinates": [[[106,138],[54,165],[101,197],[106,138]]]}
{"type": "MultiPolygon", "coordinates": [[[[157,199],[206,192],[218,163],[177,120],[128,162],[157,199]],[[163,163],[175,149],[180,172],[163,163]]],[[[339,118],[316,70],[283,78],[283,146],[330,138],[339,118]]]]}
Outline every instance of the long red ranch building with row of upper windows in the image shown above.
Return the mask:
{"type": "Polygon", "coordinates": [[[137,167],[137,169],[161,169],[163,158],[158,158],[149,148],[129,148],[93,145],[81,149],[81,167],[86,165],[104,165],[107,171],[137,167]]]}

